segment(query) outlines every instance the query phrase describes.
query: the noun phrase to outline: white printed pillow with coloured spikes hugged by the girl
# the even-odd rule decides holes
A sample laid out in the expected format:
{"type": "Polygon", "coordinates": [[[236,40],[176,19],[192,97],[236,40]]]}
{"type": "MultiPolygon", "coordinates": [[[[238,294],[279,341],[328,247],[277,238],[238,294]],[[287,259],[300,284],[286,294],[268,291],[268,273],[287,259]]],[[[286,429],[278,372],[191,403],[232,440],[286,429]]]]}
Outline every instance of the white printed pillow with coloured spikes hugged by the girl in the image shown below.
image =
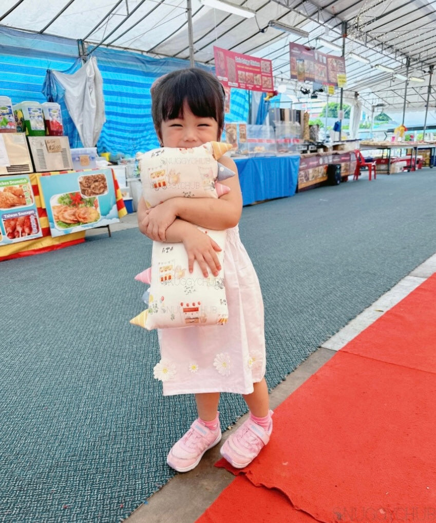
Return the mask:
{"type": "MultiPolygon", "coordinates": [[[[230,189],[217,183],[234,176],[218,164],[217,158],[229,144],[207,142],[192,149],[163,147],[139,155],[143,197],[147,207],[174,197],[218,198],[230,189]]],[[[199,230],[218,243],[221,267],[226,231],[199,230]]],[[[192,325],[222,325],[228,320],[223,269],[218,276],[204,278],[198,264],[188,272],[188,259],[182,243],[153,242],[151,267],[135,279],[149,283],[148,309],[131,320],[148,330],[192,325]]]]}

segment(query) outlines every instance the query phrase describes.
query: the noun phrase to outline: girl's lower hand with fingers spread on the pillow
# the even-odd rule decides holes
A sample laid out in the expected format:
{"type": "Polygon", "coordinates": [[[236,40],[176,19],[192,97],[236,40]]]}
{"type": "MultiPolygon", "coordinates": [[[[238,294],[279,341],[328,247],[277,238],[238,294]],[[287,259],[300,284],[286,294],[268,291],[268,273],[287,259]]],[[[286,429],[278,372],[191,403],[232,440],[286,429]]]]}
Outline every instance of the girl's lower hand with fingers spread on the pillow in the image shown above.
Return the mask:
{"type": "Polygon", "coordinates": [[[193,271],[196,260],[205,278],[209,276],[208,268],[214,276],[218,276],[221,264],[216,253],[221,251],[221,247],[210,236],[197,228],[192,228],[183,235],[182,241],[188,255],[190,272],[193,271]]]}

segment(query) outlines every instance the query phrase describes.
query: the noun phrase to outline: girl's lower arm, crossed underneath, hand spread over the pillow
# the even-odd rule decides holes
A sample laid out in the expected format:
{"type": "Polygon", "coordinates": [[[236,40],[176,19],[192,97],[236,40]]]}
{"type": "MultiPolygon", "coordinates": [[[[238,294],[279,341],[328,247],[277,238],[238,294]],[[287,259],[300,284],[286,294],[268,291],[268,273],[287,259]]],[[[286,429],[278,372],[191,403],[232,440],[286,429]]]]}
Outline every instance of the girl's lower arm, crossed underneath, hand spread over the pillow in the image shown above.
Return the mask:
{"type": "MultiPolygon", "coordinates": [[[[148,236],[147,227],[144,227],[144,219],[146,218],[147,206],[144,198],[141,197],[138,202],[138,226],[139,230],[148,236]]],[[[188,256],[188,270],[190,272],[192,272],[196,260],[205,278],[209,276],[208,268],[214,276],[218,276],[221,265],[216,253],[221,251],[221,247],[210,236],[199,231],[195,225],[180,219],[174,220],[166,230],[166,241],[171,243],[183,242],[188,256]]]]}

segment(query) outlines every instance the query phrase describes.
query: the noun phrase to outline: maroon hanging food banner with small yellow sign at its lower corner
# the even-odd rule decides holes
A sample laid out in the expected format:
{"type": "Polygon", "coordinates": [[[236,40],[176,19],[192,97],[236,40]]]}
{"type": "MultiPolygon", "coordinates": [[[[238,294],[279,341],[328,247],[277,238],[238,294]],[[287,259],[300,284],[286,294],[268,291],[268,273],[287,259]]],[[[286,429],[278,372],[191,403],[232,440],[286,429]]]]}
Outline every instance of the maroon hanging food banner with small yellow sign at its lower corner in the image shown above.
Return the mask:
{"type": "Polygon", "coordinates": [[[316,49],[289,43],[291,78],[299,82],[317,82],[345,87],[347,82],[343,56],[324,54],[316,49]]]}

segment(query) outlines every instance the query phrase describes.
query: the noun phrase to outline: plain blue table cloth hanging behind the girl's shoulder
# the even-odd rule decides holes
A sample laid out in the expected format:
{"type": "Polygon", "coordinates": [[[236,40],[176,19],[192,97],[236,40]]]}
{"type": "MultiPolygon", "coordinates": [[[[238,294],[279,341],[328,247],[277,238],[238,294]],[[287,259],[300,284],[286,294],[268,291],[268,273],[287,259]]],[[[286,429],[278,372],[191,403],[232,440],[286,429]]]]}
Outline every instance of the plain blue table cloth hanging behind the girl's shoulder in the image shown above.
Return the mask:
{"type": "Polygon", "coordinates": [[[295,194],[300,156],[256,156],[234,158],[234,162],[243,205],[295,194]]]}

